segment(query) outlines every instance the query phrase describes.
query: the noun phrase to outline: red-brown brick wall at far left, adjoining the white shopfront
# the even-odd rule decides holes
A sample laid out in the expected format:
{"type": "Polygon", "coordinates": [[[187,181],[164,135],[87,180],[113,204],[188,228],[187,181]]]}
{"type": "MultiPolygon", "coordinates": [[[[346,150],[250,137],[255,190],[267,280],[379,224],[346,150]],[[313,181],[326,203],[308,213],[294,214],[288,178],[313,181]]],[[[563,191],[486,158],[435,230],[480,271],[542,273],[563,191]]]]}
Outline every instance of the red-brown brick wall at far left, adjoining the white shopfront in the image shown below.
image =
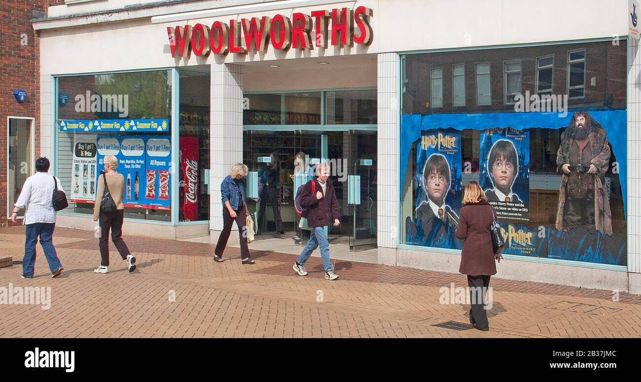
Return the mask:
{"type": "MultiPolygon", "coordinates": [[[[54,0],[0,0],[0,226],[12,224],[7,211],[7,117],[35,118],[34,160],[40,156],[39,41],[31,26],[32,12],[46,12],[54,0]],[[17,103],[13,90],[26,90],[17,103]]],[[[60,0],[60,3],[63,3],[60,0]]]]}

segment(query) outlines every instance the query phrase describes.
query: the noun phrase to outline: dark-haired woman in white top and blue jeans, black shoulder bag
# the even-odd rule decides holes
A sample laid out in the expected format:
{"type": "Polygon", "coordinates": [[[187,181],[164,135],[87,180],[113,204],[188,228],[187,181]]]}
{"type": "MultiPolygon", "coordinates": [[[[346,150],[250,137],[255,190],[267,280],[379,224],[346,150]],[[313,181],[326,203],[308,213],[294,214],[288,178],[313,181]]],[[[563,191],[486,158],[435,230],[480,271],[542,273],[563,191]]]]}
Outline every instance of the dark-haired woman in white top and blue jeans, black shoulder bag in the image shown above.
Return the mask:
{"type": "Polygon", "coordinates": [[[22,220],[22,224],[26,226],[22,278],[33,278],[38,237],[40,238],[44,256],[49,263],[51,274],[55,278],[62,273],[62,264],[58,260],[58,254],[56,254],[56,249],[51,241],[53,229],[56,226],[56,210],[53,208],[53,191],[56,185],[58,190],[64,191],[60,181],[49,174],[49,160],[47,158],[38,158],[36,161],[36,173],[24,181],[18,201],[13,204],[11,220],[14,223],[18,212],[26,207],[24,220],[22,220]]]}

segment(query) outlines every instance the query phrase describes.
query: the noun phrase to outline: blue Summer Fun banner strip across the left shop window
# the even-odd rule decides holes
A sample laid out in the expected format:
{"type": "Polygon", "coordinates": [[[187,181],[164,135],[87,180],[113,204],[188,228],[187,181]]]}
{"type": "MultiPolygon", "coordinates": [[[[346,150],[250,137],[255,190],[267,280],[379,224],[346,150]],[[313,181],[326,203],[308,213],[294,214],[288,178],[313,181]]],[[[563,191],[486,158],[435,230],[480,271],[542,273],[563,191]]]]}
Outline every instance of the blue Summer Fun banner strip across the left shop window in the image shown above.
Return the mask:
{"type": "Polygon", "coordinates": [[[62,119],[60,131],[165,131],[169,133],[169,119],[62,119]]]}

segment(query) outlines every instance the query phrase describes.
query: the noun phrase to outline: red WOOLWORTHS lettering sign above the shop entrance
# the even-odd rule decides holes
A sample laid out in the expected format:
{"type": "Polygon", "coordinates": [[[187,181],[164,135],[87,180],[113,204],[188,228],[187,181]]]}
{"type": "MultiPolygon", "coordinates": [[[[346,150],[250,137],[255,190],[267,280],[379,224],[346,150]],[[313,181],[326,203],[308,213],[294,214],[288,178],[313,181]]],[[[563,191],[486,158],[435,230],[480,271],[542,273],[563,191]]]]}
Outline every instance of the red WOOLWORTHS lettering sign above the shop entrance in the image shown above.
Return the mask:
{"type": "Polygon", "coordinates": [[[328,37],[331,37],[329,41],[333,46],[354,46],[354,43],[369,45],[373,36],[370,17],[372,10],[359,6],[356,10],[313,11],[311,16],[294,13],[292,19],[275,15],[271,19],[263,16],[261,19],[241,19],[240,22],[229,20],[229,25],[215,21],[211,27],[204,24],[176,28],[168,26],[167,35],[172,57],[189,57],[191,52],[196,56],[208,56],[212,52],[222,55],[264,52],[270,44],[281,51],[287,51],[290,47],[326,48],[328,37]],[[358,33],[354,33],[354,24],[358,33]]]}

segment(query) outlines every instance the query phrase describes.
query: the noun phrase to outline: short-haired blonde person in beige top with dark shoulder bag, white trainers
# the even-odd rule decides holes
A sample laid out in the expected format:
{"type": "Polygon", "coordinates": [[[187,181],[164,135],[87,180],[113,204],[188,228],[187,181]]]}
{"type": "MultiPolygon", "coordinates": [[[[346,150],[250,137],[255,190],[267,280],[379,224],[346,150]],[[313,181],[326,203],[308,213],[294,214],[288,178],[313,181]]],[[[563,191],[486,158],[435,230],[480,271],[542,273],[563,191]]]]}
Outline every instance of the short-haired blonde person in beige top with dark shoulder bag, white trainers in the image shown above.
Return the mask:
{"type": "Polygon", "coordinates": [[[122,260],[127,260],[129,272],[136,269],[136,258],[131,256],[127,245],[122,240],[122,219],[124,217],[124,205],[122,195],[124,194],[124,176],[116,172],[118,160],[113,155],[104,156],[104,171],[100,172],[98,187],[96,190],[96,204],[94,205],[94,222],[100,220],[100,248],[101,263],[94,269],[96,273],[107,273],[109,266],[109,231],[112,231],[112,242],[118,249],[122,260]],[[108,191],[104,183],[107,183],[108,191]],[[103,201],[104,192],[112,195],[113,203],[116,205],[114,212],[103,212],[100,204],[103,201]]]}

